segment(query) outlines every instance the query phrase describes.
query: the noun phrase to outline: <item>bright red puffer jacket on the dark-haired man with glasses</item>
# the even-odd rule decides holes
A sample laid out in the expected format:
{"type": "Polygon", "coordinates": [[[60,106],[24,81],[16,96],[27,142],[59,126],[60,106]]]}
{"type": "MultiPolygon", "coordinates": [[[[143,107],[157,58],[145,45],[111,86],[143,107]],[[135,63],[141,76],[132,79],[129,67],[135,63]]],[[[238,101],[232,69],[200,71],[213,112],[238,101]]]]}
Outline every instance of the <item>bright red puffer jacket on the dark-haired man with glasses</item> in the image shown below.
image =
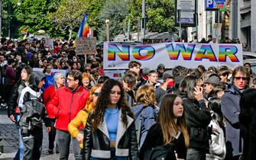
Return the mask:
{"type": "Polygon", "coordinates": [[[56,117],[55,128],[57,130],[67,130],[67,126],[79,110],[86,106],[89,91],[79,86],[73,93],[70,88],[58,88],[53,99],[47,105],[50,115],[56,117]]]}

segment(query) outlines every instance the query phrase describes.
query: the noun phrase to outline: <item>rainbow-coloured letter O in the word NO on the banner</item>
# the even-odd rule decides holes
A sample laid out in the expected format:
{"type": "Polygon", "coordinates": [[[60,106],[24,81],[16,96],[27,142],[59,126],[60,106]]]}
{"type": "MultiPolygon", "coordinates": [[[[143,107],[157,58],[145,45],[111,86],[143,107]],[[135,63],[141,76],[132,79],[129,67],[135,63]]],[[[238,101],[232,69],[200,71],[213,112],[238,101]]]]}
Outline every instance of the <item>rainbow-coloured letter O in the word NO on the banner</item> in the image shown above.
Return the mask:
{"type": "Polygon", "coordinates": [[[152,46],[135,46],[132,50],[132,56],[137,60],[149,60],[154,57],[156,51],[152,46]],[[147,50],[147,54],[141,55],[141,50],[147,50]]]}

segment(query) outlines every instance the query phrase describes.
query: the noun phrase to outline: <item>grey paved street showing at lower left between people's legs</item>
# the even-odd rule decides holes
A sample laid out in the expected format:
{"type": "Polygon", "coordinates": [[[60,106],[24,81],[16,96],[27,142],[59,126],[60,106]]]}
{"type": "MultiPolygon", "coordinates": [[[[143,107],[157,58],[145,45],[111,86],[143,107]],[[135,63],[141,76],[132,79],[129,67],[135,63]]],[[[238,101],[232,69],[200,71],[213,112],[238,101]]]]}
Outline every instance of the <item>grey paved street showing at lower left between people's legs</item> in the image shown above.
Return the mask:
{"type": "MultiPolygon", "coordinates": [[[[3,138],[2,142],[0,142],[0,146],[4,146],[4,153],[0,155],[0,159],[11,160],[15,157],[15,154],[18,150],[18,131],[15,123],[12,123],[11,120],[8,119],[6,110],[0,110],[0,135],[3,138]]],[[[72,146],[70,146],[70,148],[71,154],[69,159],[74,160],[75,158],[72,154],[72,146]]],[[[54,160],[59,158],[59,154],[49,155],[47,149],[48,135],[44,130],[41,160],[54,160]]]]}

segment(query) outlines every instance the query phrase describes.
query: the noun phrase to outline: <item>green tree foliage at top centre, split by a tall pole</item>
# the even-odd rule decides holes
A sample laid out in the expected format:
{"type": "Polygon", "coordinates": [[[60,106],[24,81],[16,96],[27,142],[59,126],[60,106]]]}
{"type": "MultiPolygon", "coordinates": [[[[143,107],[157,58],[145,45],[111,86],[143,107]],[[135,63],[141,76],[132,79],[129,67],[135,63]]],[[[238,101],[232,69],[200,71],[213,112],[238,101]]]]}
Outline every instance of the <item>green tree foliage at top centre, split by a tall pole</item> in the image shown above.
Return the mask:
{"type": "MultiPolygon", "coordinates": [[[[174,0],[146,0],[147,29],[152,32],[165,32],[174,26],[174,0]]],[[[141,0],[131,0],[128,4],[127,19],[132,21],[132,30],[138,30],[138,19],[141,19],[141,0]]]]}

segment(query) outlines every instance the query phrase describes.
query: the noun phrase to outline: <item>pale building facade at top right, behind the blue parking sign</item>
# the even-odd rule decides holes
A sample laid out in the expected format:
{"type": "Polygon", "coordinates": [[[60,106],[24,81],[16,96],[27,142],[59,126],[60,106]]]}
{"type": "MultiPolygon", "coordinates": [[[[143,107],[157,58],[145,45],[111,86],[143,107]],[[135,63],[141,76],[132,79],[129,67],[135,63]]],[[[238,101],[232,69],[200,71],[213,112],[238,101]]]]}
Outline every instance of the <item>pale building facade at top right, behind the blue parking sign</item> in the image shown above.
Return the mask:
{"type": "Polygon", "coordinates": [[[197,27],[189,27],[188,40],[197,36],[198,40],[212,35],[219,42],[228,37],[231,40],[239,38],[240,43],[248,45],[247,50],[256,52],[256,0],[226,0],[227,11],[220,16],[217,11],[206,11],[206,0],[197,1],[197,27]],[[218,23],[218,19],[221,19],[218,23]]]}

